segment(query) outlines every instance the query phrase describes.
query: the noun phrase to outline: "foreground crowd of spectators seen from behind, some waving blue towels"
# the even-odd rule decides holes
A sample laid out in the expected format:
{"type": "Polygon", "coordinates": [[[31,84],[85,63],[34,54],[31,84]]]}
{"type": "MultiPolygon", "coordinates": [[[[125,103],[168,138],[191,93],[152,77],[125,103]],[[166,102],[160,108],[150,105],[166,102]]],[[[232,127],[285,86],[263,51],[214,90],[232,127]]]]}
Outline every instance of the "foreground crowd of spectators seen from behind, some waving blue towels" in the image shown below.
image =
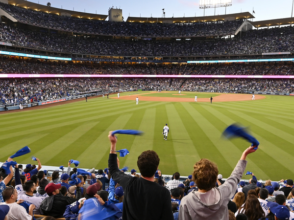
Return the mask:
{"type": "MultiPolygon", "coordinates": [[[[258,146],[245,149],[231,176],[223,179],[218,166],[200,159],[185,181],[175,172],[165,182],[160,158],[152,150],[138,156],[131,174],[120,169],[116,152],[117,137],[109,132],[108,168],[85,171],[71,168],[79,161],[69,160],[53,173],[32,164],[17,164],[25,148],[9,157],[0,168],[1,220],[292,220],[294,219],[294,181],[257,181],[252,172],[248,183],[241,181],[247,156],[258,146]],[[14,157],[15,156],[15,157],[14,157]],[[14,170],[13,167],[14,166],[14,170]],[[140,210],[140,212],[138,211],[140,210]]],[[[120,150],[120,156],[128,154],[120,150]]],[[[190,168],[190,169],[191,169],[190,168]]],[[[189,169],[189,168],[187,168],[189,169]]]]}

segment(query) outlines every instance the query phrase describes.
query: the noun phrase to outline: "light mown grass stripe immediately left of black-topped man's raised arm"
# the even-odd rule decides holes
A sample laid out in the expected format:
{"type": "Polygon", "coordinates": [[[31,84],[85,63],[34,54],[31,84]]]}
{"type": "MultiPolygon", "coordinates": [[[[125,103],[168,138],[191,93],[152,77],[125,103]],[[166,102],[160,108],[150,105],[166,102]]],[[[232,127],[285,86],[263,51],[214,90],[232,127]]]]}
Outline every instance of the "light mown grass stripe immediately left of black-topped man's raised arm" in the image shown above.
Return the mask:
{"type": "MultiPolygon", "coordinates": [[[[132,113],[121,114],[108,128],[97,136],[95,141],[87,147],[77,160],[84,161],[83,167],[97,167],[105,153],[109,154],[110,142],[108,140],[108,132],[123,129],[128,122],[132,113]]],[[[100,168],[99,168],[100,169],[100,168]]]]}

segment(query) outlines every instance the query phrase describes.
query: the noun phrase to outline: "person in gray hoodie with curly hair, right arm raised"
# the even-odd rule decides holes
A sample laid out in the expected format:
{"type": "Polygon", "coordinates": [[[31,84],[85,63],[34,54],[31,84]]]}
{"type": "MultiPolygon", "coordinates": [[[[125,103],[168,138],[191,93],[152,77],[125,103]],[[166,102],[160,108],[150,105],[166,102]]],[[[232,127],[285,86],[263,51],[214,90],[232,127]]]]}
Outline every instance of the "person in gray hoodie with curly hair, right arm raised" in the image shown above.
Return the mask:
{"type": "Polygon", "coordinates": [[[194,165],[193,180],[198,191],[192,191],[182,198],[179,220],[228,220],[229,200],[234,196],[237,185],[245,171],[246,156],[255,152],[256,146],[247,148],[231,176],[218,188],[218,167],[208,159],[201,159],[194,165]]]}

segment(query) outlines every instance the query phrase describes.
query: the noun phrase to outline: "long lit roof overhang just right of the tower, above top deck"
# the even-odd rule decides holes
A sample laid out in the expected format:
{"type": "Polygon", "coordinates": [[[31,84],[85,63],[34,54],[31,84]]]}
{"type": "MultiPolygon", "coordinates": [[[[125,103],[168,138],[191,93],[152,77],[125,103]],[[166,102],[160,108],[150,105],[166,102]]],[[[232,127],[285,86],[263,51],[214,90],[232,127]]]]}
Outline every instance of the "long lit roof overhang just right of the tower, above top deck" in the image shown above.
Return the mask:
{"type": "Polygon", "coordinates": [[[194,22],[220,22],[225,20],[237,19],[251,19],[255,18],[249,12],[216,15],[216,16],[202,16],[202,17],[187,17],[187,18],[137,18],[128,17],[126,22],[141,22],[141,23],[194,23],[194,22]]]}

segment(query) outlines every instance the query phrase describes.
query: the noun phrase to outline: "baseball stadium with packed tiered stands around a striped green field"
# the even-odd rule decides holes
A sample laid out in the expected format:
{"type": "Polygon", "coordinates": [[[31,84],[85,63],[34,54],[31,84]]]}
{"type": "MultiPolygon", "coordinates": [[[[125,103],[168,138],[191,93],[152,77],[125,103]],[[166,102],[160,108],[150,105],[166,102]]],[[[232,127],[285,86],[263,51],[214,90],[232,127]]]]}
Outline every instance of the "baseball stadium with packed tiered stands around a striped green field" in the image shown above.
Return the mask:
{"type": "Polygon", "coordinates": [[[259,146],[238,182],[254,176],[260,190],[266,180],[291,186],[294,18],[251,22],[243,12],[124,22],[111,17],[117,13],[0,0],[2,179],[4,162],[25,146],[30,152],[13,158],[24,168],[40,162],[54,171],[73,159],[97,174],[109,168],[109,132],[138,130],[143,135],[116,134],[116,150],[129,152],[119,156],[120,169],[140,174],[138,157],[152,150],[166,181],[176,172],[185,181],[201,158],[225,180],[253,146],[247,135],[259,146]],[[223,135],[233,124],[246,135],[223,135]]]}

